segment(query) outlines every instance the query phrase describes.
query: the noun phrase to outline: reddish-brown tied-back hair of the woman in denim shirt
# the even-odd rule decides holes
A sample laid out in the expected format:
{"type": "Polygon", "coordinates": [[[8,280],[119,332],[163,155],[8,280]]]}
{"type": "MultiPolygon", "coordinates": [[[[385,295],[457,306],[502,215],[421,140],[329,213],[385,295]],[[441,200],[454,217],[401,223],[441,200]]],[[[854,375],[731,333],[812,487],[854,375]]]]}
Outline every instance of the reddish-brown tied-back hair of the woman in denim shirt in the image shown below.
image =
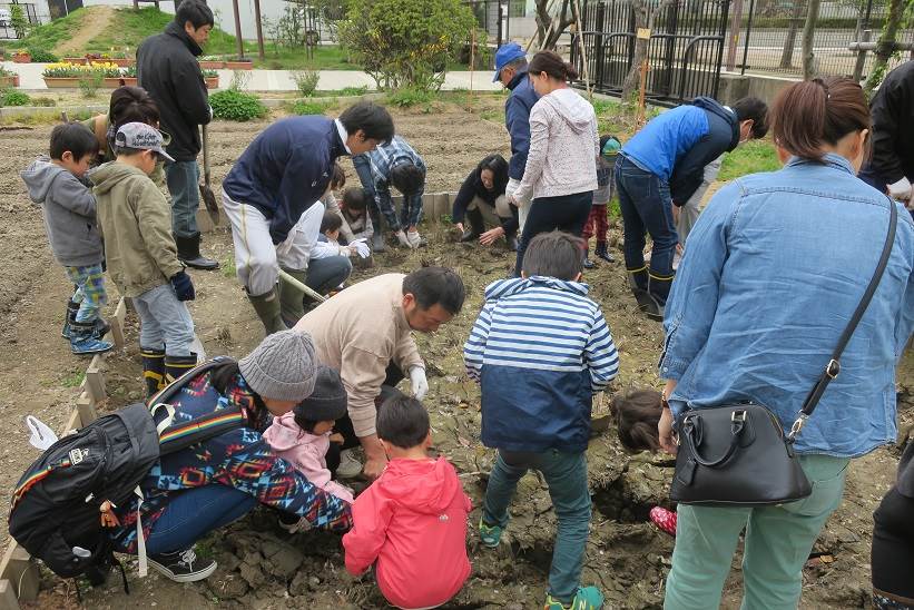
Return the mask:
{"type": "Polygon", "coordinates": [[[872,128],[861,86],[849,78],[816,78],[784,89],[772,107],[775,144],[803,159],[819,161],[823,145],[872,128]]]}

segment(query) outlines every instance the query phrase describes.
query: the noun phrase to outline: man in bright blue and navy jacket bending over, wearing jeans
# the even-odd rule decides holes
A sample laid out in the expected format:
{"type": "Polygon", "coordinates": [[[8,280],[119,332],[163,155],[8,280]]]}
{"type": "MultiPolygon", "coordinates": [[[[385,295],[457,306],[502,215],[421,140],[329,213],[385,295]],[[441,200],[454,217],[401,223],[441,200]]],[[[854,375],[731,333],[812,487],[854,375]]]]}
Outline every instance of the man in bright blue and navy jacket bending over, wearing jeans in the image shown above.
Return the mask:
{"type": "Polygon", "coordinates": [[[664,319],[679,237],[672,205],[682,206],[705,177],[705,166],[724,152],[768,131],[768,107],[743,98],[733,108],[710,98],[668,110],[638,131],[619,152],[616,185],[625,223],[626,269],[639,307],[664,319]],[[653,240],[650,270],[645,234],[653,240]]]}

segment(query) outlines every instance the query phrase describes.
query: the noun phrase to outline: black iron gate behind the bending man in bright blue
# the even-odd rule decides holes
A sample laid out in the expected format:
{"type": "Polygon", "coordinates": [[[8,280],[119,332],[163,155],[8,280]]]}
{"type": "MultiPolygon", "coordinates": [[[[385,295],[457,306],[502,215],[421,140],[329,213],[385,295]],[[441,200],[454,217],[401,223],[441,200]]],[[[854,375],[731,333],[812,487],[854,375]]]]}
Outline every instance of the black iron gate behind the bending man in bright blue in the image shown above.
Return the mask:
{"type": "MultiPolygon", "coordinates": [[[[645,91],[650,101],[676,105],[717,96],[729,4],[730,0],[642,3],[658,10],[646,58],[645,91]]],[[[586,0],[582,6],[581,36],[572,36],[571,61],[594,90],[618,95],[632,67],[640,69],[633,66],[636,7],[631,0],[586,0]]]]}

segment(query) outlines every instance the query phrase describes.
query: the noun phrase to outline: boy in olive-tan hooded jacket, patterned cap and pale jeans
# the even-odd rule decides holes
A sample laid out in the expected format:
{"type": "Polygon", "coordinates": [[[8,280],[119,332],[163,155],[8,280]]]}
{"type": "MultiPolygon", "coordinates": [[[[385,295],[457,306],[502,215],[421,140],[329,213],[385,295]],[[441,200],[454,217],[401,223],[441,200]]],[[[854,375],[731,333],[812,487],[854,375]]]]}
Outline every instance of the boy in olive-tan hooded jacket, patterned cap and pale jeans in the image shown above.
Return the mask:
{"type": "Polygon", "coordinates": [[[194,321],[184,304],[194,299],[194,284],[178,260],[168,200],[149,178],[156,161],[171,160],[161,134],[128,122],[115,136],[115,154],[117,160],[99,167],[90,179],[108,274],[139,314],[142,376],[153,395],[197,363],[190,351],[194,321]]]}

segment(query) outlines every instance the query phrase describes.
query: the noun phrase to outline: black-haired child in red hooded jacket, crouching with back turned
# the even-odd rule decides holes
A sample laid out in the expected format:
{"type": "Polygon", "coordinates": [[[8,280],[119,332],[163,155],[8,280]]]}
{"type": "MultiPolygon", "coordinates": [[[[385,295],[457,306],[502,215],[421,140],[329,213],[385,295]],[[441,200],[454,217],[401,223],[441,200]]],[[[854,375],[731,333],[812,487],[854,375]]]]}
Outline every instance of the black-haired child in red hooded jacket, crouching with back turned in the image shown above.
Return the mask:
{"type": "Polygon", "coordinates": [[[352,506],[354,524],[343,537],[346,570],[358,575],[376,562],[377,586],[392,606],[438,608],[470,575],[470,498],[454,466],[426,454],[429,414],[417,400],[389,399],[376,429],[390,462],[352,506]]]}

